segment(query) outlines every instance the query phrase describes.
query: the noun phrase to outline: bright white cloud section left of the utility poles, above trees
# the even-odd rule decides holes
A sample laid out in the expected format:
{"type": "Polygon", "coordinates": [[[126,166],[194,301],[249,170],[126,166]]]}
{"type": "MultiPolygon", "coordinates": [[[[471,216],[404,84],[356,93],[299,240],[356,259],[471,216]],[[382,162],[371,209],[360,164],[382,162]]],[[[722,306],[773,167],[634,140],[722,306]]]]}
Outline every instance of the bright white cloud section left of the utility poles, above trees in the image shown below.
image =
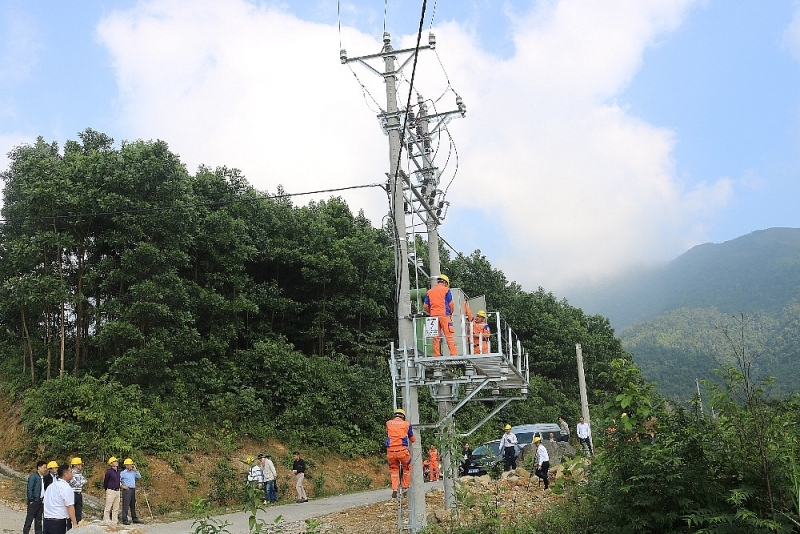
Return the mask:
{"type": "MultiPolygon", "coordinates": [[[[272,192],[385,180],[385,140],[339,62],[335,26],[239,0],[155,1],[98,32],[114,57],[125,129],[168,141],[190,170],[238,167],[272,192]]],[[[355,48],[378,47],[349,35],[355,48]]],[[[385,199],[368,191],[349,198],[385,199]]],[[[379,219],[386,208],[371,211],[379,219]]]]}

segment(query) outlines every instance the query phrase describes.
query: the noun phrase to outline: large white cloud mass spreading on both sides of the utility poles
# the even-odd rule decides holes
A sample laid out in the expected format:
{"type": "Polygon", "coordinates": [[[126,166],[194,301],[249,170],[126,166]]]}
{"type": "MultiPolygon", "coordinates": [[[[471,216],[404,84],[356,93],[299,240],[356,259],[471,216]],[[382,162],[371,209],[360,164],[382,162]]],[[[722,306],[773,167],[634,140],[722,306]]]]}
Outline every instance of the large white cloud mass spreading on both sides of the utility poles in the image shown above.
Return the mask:
{"type": "MultiPolygon", "coordinates": [[[[645,49],[692,5],[541,2],[517,19],[517,53],[507,60],[481,50],[465,27],[440,23],[438,53],[468,107],[466,120],[451,123],[460,155],[449,195],[455,225],[442,235],[457,241],[451,236],[466,231],[459,210],[503,221],[507,235],[478,246],[528,289],[681,252],[695,216],[724,206],[731,184],[685,184],[671,159],[676,134],[631,116],[615,97],[645,49]],[[513,246],[492,250],[498,242],[513,246]]],[[[260,189],[289,192],[385,179],[386,137],[339,63],[335,25],[241,0],[153,0],[113,14],[98,33],[114,57],[127,131],[167,140],[190,169],[235,166],[260,189]]],[[[393,37],[397,47],[414,42],[393,37]]],[[[380,48],[351,28],[342,42],[351,57],[380,48]]],[[[383,102],[381,79],[354,70],[383,102]]],[[[433,54],[420,56],[416,76],[426,98],[446,88],[433,54]]],[[[438,106],[453,109],[454,96],[438,106]]],[[[388,209],[380,190],[346,198],[375,222],[388,209]]]]}

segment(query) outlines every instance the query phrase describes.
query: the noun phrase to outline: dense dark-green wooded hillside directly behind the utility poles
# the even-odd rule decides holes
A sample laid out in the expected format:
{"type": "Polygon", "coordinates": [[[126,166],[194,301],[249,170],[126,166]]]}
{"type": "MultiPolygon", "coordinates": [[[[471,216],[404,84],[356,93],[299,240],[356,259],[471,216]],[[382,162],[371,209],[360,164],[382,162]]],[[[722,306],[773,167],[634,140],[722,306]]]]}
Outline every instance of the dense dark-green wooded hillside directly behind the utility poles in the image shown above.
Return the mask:
{"type": "MultiPolygon", "coordinates": [[[[386,230],[339,198],[295,205],[234,169],[190,174],[162,141],[117,147],[90,129],[63,150],[18,147],[2,177],[0,378],[23,406],[19,454],[245,437],[380,451],[396,329],[386,230]]],[[[442,265],[531,353],[532,393],[505,419],[577,415],[575,343],[590,401],[613,393],[610,362],[626,356],[606,319],[524,291],[480,252],[442,250],[442,265]]],[[[489,409],[469,405],[457,424],[489,409]]]]}

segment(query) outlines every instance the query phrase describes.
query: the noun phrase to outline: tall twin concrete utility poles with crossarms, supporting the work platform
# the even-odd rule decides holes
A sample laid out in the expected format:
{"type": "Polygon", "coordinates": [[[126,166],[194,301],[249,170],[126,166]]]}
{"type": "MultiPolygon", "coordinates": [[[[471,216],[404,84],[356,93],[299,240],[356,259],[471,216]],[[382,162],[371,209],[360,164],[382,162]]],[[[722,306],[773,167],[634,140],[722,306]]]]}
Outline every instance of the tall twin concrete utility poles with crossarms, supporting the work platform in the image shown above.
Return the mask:
{"type": "MultiPolygon", "coordinates": [[[[435,46],[436,38],[431,33],[427,46],[394,50],[391,45],[389,33],[384,32],[383,48],[378,54],[348,58],[345,50],[340,51],[340,60],[343,64],[350,62],[361,63],[374,74],[381,76],[386,87],[386,110],[378,115],[378,119],[384,131],[389,136],[389,173],[387,174],[387,187],[392,204],[390,215],[393,220],[395,238],[395,270],[398,290],[398,347],[400,350],[406,351],[406,353],[416,347],[414,323],[411,315],[408,236],[405,220],[406,207],[409,207],[409,212],[412,216],[415,213],[418,216],[422,216],[421,214],[424,213],[424,220],[428,231],[431,275],[435,276],[440,274],[438,226],[441,223],[442,209],[446,203],[442,198],[442,192],[437,188],[438,175],[431,159],[431,135],[436,135],[436,133],[444,128],[456,115],[461,115],[463,117],[466,113],[466,107],[460,96],[456,97],[457,110],[455,111],[429,115],[421,96],[417,98],[420,111],[416,118],[410,109],[404,109],[402,111],[398,109],[398,74],[412,59],[416,58],[420,50],[434,49],[435,46]],[[405,59],[398,66],[397,64],[400,58],[405,59]],[[368,63],[369,60],[377,59],[383,60],[382,71],[377,70],[368,63]],[[438,121],[433,128],[430,127],[431,120],[438,121]],[[407,148],[407,155],[416,167],[416,170],[413,171],[413,174],[416,176],[416,184],[402,169],[400,169],[400,156],[403,147],[407,148]]],[[[402,376],[400,379],[406,383],[414,382],[415,384],[418,383],[419,380],[424,381],[424,376],[416,376],[417,369],[418,368],[414,365],[405,366],[401,371],[402,376]]],[[[449,395],[452,392],[452,386],[443,386],[443,391],[447,391],[449,395]]],[[[403,405],[406,410],[407,419],[412,425],[418,425],[420,423],[418,399],[417,386],[413,385],[408,387],[404,394],[403,405]]],[[[440,418],[445,419],[444,426],[448,429],[452,426],[449,425],[451,418],[445,418],[445,416],[450,413],[451,409],[452,406],[449,401],[439,402],[440,418]]],[[[413,464],[417,467],[411,470],[411,491],[408,496],[408,526],[411,532],[418,532],[426,525],[425,488],[422,469],[419,467],[422,465],[421,440],[417,440],[417,442],[411,444],[411,458],[413,464]]],[[[448,451],[445,451],[442,456],[442,467],[448,474],[450,473],[450,461],[450,455],[448,451]]],[[[450,480],[448,484],[447,477],[445,477],[445,492],[445,502],[450,502],[451,505],[454,504],[455,495],[453,493],[453,483],[452,480],[450,480]],[[450,499],[447,499],[448,487],[450,499]]]]}

